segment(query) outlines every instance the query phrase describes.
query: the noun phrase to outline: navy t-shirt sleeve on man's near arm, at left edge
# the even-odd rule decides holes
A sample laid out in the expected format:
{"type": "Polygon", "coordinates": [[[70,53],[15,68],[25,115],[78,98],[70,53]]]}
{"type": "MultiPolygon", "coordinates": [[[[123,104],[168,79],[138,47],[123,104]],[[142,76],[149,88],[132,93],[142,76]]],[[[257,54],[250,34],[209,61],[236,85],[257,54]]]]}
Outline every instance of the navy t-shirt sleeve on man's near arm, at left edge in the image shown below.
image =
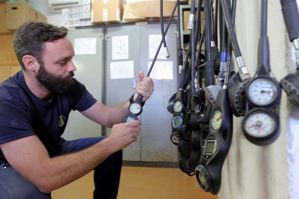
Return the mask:
{"type": "Polygon", "coordinates": [[[25,109],[0,99],[0,144],[36,135],[30,120],[25,109]]]}

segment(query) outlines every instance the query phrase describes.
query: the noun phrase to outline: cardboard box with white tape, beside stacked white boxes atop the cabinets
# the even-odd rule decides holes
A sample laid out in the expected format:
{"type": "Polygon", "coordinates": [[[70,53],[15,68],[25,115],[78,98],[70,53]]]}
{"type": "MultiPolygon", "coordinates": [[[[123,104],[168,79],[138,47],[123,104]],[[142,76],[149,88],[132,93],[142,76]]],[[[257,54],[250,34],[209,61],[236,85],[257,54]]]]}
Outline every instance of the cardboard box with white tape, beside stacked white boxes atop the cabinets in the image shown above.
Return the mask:
{"type": "Polygon", "coordinates": [[[91,22],[97,24],[121,23],[123,0],[94,0],[91,3],[91,22]]]}

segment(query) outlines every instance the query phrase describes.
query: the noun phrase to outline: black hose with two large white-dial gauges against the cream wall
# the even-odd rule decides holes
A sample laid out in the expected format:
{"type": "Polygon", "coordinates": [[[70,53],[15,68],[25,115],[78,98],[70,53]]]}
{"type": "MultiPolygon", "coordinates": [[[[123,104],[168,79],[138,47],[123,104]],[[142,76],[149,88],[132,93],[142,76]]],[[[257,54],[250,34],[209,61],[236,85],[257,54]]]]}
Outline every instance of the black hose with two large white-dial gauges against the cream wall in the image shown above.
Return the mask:
{"type": "Polygon", "coordinates": [[[261,8],[257,76],[251,79],[246,87],[249,112],[246,112],[242,121],[242,130],[251,143],[267,145],[274,142],[280,133],[281,89],[277,80],[269,75],[271,70],[267,37],[267,0],[262,1],[261,8]]]}

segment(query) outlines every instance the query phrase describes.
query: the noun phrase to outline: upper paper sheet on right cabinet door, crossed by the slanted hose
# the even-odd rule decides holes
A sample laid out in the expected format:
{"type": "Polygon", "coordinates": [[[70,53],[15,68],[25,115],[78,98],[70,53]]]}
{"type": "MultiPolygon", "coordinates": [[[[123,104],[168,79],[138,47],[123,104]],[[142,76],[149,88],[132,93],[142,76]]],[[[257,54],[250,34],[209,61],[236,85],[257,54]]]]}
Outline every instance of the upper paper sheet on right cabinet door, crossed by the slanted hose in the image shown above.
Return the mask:
{"type": "MultiPolygon", "coordinates": [[[[155,57],[158,47],[160,45],[161,39],[162,39],[162,35],[149,35],[149,58],[150,59],[153,59],[155,57]]],[[[167,40],[166,36],[165,36],[165,40],[167,40]]],[[[157,58],[158,59],[166,59],[163,44],[161,46],[161,49],[159,51],[157,58]]]]}

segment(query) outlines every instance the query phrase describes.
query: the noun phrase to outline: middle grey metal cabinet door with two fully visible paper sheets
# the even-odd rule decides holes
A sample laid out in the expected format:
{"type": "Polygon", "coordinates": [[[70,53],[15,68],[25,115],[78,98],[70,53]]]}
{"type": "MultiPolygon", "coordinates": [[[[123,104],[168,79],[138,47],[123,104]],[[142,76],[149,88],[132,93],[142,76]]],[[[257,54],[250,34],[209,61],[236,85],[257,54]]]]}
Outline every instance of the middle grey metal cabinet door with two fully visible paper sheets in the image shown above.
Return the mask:
{"type": "MultiPolygon", "coordinates": [[[[107,36],[105,102],[107,107],[113,107],[128,100],[135,92],[140,70],[140,26],[108,27],[107,36]]],[[[106,128],[106,135],[110,131],[106,128]]],[[[123,150],[123,160],[141,161],[140,136],[123,150]]]]}

